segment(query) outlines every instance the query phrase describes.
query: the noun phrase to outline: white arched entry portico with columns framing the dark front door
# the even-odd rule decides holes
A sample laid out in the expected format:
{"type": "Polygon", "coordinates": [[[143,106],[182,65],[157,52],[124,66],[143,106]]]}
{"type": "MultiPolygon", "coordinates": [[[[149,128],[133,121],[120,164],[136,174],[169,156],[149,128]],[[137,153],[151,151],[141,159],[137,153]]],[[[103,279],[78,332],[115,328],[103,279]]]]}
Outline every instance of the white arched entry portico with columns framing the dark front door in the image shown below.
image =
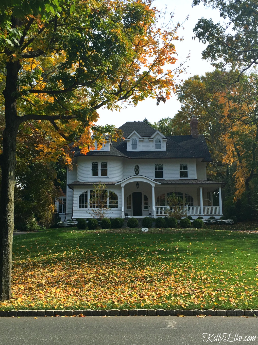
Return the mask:
{"type": "Polygon", "coordinates": [[[127,177],[116,185],[121,185],[122,217],[125,213],[134,217],[145,217],[151,213],[155,217],[155,185],[160,185],[159,182],[137,175],[127,177]]]}

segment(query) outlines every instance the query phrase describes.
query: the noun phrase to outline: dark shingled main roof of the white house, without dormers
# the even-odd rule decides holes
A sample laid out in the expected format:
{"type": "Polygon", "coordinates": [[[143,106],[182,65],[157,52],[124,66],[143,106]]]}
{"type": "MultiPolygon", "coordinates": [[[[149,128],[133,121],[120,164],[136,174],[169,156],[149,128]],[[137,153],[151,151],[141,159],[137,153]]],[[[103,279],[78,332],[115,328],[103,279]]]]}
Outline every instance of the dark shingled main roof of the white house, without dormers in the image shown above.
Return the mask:
{"type": "MultiPolygon", "coordinates": [[[[119,127],[123,131],[123,136],[128,137],[134,130],[142,137],[151,137],[156,130],[145,122],[130,121],[119,127]]],[[[165,158],[201,158],[203,161],[212,161],[205,138],[199,135],[193,139],[191,135],[168,136],[166,151],[127,151],[126,141],[118,140],[112,142],[110,151],[93,150],[87,156],[116,156],[125,158],[140,159],[165,159],[165,158]]],[[[75,148],[75,157],[84,156],[80,154],[79,148],[75,148]]]]}

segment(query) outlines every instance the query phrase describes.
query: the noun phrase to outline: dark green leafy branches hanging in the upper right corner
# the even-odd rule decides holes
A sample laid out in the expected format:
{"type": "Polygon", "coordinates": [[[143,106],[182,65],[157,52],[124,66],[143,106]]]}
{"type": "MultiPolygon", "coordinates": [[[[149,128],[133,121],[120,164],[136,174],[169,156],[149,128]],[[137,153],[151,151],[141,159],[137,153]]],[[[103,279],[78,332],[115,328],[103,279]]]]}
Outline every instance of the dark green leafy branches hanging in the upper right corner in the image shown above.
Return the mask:
{"type": "Polygon", "coordinates": [[[229,63],[240,66],[242,72],[258,63],[258,2],[256,0],[194,0],[218,9],[223,25],[201,18],[195,25],[196,37],[204,44],[204,59],[217,66],[229,63]],[[223,62],[219,62],[223,60],[223,62]]]}

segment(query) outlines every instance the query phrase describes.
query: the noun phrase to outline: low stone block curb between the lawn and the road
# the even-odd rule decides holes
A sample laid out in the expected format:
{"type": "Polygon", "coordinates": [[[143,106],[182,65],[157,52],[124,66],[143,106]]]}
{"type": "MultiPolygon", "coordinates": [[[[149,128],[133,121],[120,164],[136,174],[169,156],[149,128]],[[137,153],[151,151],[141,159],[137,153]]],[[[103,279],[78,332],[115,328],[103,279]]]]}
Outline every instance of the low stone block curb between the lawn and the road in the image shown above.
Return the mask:
{"type": "Polygon", "coordinates": [[[21,316],[258,316],[258,310],[249,309],[77,309],[77,310],[9,310],[1,311],[0,317],[21,316]]]}

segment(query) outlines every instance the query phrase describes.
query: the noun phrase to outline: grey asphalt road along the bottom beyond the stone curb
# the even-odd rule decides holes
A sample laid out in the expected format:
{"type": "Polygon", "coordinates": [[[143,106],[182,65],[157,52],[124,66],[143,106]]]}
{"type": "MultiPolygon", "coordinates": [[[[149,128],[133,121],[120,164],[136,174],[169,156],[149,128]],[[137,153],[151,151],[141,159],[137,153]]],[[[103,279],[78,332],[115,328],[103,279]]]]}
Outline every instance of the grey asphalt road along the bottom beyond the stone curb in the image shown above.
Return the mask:
{"type": "Polygon", "coordinates": [[[0,345],[238,345],[257,343],[257,317],[0,318],[0,345]],[[248,341],[248,338],[245,339],[245,337],[255,338],[248,341]]]}

